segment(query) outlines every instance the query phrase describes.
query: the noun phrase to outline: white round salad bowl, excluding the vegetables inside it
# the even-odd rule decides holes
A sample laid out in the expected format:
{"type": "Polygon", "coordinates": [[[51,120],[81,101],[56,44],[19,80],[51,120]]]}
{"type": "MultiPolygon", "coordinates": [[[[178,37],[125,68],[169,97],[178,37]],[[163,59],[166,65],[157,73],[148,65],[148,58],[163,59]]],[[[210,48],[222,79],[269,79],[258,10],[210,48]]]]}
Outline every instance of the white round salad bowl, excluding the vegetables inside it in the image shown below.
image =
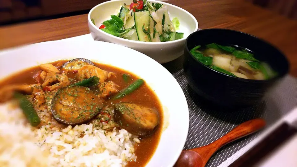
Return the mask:
{"type": "Polygon", "coordinates": [[[195,17],[187,12],[186,10],[171,5],[166,2],[160,1],[149,1],[149,2],[158,2],[167,7],[168,12],[170,13],[170,19],[177,17],[180,22],[179,30],[177,32],[183,32],[184,36],[182,39],[176,41],[168,42],[141,42],[141,41],[132,41],[123,39],[117,36],[110,35],[102,30],[99,27],[102,25],[102,22],[109,20],[110,15],[117,15],[120,11],[121,6],[126,3],[130,4],[132,0],[113,0],[101,3],[93,9],[88,14],[88,26],[91,32],[91,35],[94,40],[105,41],[110,43],[115,43],[135,49],[147,56],[153,58],[159,63],[170,62],[176,58],[179,58],[183,55],[183,50],[185,48],[185,41],[187,36],[192,32],[198,30],[198,22],[195,17]],[[92,23],[94,19],[95,25],[92,23]]]}

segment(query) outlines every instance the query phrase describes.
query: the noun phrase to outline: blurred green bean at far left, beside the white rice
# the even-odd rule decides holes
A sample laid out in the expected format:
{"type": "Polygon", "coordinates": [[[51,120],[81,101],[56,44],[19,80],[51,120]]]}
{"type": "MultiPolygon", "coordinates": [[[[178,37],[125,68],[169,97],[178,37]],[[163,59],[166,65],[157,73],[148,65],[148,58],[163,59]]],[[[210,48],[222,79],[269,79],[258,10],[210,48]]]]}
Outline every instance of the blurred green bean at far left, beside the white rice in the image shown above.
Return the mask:
{"type": "Polygon", "coordinates": [[[37,115],[37,112],[33,108],[32,103],[26,98],[26,96],[20,94],[20,93],[15,93],[14,97],[18,99],[19,101],[19,107],[23,110],[23,113],[25,114],[26,118],[28,119],[29,123],[32,126],[37,126],[39,125],[40,118],[37,115]]]}

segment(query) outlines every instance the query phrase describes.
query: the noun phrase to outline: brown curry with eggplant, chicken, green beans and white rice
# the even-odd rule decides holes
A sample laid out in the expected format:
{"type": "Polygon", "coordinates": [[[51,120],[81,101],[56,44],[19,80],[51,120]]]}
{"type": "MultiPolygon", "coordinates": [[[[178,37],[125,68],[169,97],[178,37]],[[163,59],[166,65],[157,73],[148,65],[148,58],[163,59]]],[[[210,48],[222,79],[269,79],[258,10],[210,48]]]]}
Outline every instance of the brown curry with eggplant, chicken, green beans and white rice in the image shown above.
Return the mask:
{"type": "Polygon", "coordinates": [[[0,82],[0,166],[145,166],[163,113],[136,75],[87,59],[0,82]]]}

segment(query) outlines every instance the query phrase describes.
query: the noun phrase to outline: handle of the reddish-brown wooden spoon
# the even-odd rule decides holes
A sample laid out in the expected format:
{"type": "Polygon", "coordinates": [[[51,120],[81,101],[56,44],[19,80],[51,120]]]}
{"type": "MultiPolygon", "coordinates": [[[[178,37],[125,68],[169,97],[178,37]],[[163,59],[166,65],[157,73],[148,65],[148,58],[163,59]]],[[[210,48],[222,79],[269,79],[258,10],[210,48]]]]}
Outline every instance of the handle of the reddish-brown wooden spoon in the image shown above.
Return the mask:
{"type": "Polygon", "coordinates": [[[265,120],[261,118],[252,119],[246,122],[243,122],[236,126],[234,129],[232,129],[229,133],[221,137],[220,139],[217,139],[213,142],[217,146],[217,149],[221,148],[222,146],[240,139],[244,136],[247,136],[251,133],[254,133],[260,129],[262,129],[265,126],[265,120]]]}

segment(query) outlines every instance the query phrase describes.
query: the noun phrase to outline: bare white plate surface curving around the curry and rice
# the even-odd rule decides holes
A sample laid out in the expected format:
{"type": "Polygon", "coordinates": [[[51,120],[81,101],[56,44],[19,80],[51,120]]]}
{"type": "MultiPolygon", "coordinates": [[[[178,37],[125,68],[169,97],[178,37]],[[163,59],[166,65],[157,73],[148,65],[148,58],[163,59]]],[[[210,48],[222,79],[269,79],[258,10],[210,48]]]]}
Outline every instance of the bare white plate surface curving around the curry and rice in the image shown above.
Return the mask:
{"type": "Polygon", "coordinates": [[[102,41],[50,41],[0,52],[0,80],[41,63],[86,58],[130,71],[153,89],[163,108],[163,132],[147,167],[172,167],[186,142],[189,113],[183,90],[152,58],[127,47],[102,41]],[[13,66],[11,62],[14,62],[13,66]],[[148,70],[149,69],[149,70],[148,70]]]}

